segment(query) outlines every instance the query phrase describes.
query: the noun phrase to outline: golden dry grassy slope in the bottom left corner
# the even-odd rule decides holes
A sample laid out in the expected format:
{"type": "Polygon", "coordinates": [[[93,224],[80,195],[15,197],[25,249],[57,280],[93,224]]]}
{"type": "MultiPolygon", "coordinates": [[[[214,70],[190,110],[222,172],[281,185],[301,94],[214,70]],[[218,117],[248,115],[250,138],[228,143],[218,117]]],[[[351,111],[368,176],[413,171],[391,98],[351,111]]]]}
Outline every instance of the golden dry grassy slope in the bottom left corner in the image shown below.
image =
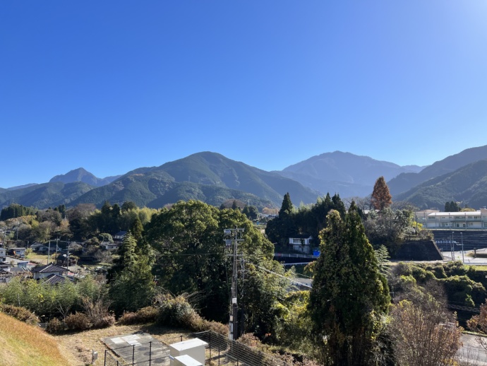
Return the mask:
{"type": "Polygon", "coordinates": [[[56,340],[38,326],[0,313],[0,365],[70,365],[56,340]]]}

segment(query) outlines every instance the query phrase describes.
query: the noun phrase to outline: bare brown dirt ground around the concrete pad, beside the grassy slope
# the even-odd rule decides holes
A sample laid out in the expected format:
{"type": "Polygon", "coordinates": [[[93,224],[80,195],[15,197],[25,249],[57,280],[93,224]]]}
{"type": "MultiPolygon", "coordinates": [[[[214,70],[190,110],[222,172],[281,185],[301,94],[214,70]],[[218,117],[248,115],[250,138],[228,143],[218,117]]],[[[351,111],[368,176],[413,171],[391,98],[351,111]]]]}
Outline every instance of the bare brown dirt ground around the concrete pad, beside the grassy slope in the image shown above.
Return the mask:
{"type": "Polygon", "coordinates": [[[68,333],[55,336],[59,342],[61,353],[65,355],[73,366],[90,365],[92,350],[98,353],[98,360],[93,365],[103,365],[105,346],[102,338],[119,336],[121,334],[143,331],[163,343],[176,343],[188,339],[189,331],[184,329],[169,329],[155,325],[114,325],[105,329],[94,329],[78,333],[68,333]],[[182,337],[182,338],[181,338],[182,337]]]}

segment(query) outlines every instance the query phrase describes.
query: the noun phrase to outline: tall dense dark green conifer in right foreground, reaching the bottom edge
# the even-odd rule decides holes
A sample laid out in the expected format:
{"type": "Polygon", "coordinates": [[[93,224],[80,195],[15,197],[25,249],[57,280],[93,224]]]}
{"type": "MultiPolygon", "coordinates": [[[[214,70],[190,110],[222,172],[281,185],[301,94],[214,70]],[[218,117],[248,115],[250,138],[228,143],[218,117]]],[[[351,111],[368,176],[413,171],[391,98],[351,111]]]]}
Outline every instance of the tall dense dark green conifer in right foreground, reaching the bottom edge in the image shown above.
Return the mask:
{"type": "Polygon", "coordinates": [[[354,202],[345,220],[330,211],[320,239],[308,309],[323,364],[371,364],[390,296],[354,202]]]}

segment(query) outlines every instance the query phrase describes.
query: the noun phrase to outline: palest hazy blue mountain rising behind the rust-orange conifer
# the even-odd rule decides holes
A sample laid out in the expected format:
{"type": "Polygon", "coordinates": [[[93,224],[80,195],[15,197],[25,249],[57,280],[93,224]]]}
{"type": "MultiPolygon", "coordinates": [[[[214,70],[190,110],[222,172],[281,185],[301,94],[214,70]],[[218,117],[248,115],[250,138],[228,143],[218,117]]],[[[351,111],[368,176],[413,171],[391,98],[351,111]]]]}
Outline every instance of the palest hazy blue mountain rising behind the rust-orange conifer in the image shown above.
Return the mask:
{"type": "Polygon", "coordinates": [[[420,172],[423,167],[401,167],[387,161],[351,153],[324,153],[286,167],[279,174],[300,182],[322,194],[338,193],[342,197],[367,196],[372,193],[375,180],[383,176],[391,179],[403,172],[420,172]]]}

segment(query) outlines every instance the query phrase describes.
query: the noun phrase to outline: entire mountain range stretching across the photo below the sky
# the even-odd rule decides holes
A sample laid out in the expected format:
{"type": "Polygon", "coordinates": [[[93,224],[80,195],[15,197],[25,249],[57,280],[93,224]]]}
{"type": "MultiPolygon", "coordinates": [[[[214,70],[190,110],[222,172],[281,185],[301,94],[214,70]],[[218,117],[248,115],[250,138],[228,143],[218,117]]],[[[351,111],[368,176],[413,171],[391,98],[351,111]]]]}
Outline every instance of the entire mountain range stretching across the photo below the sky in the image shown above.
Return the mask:
{"type": "Polygon", "coordinates": [[[116,177],[97,178],[78,168],[47,183],[0,188],[0,207],[11,203],[37,208],[78,203],[100,207],[104,201],[133,201],[159,208],[181,199],[199,199],[215,206],[239,199],[258,208],[279,207],[286,192],[296,205],[315,203],[327,192],[342,198],[367,196],[381,175],[388,180],[394,201],[410,201],[421,208],[443,208],[446,201],[480,207],[487,205],[485,159],[487,146],[464,150],[428,167],[399,166],[335,151],[267,172],[218,153],[202,152],[116,177]]]}

